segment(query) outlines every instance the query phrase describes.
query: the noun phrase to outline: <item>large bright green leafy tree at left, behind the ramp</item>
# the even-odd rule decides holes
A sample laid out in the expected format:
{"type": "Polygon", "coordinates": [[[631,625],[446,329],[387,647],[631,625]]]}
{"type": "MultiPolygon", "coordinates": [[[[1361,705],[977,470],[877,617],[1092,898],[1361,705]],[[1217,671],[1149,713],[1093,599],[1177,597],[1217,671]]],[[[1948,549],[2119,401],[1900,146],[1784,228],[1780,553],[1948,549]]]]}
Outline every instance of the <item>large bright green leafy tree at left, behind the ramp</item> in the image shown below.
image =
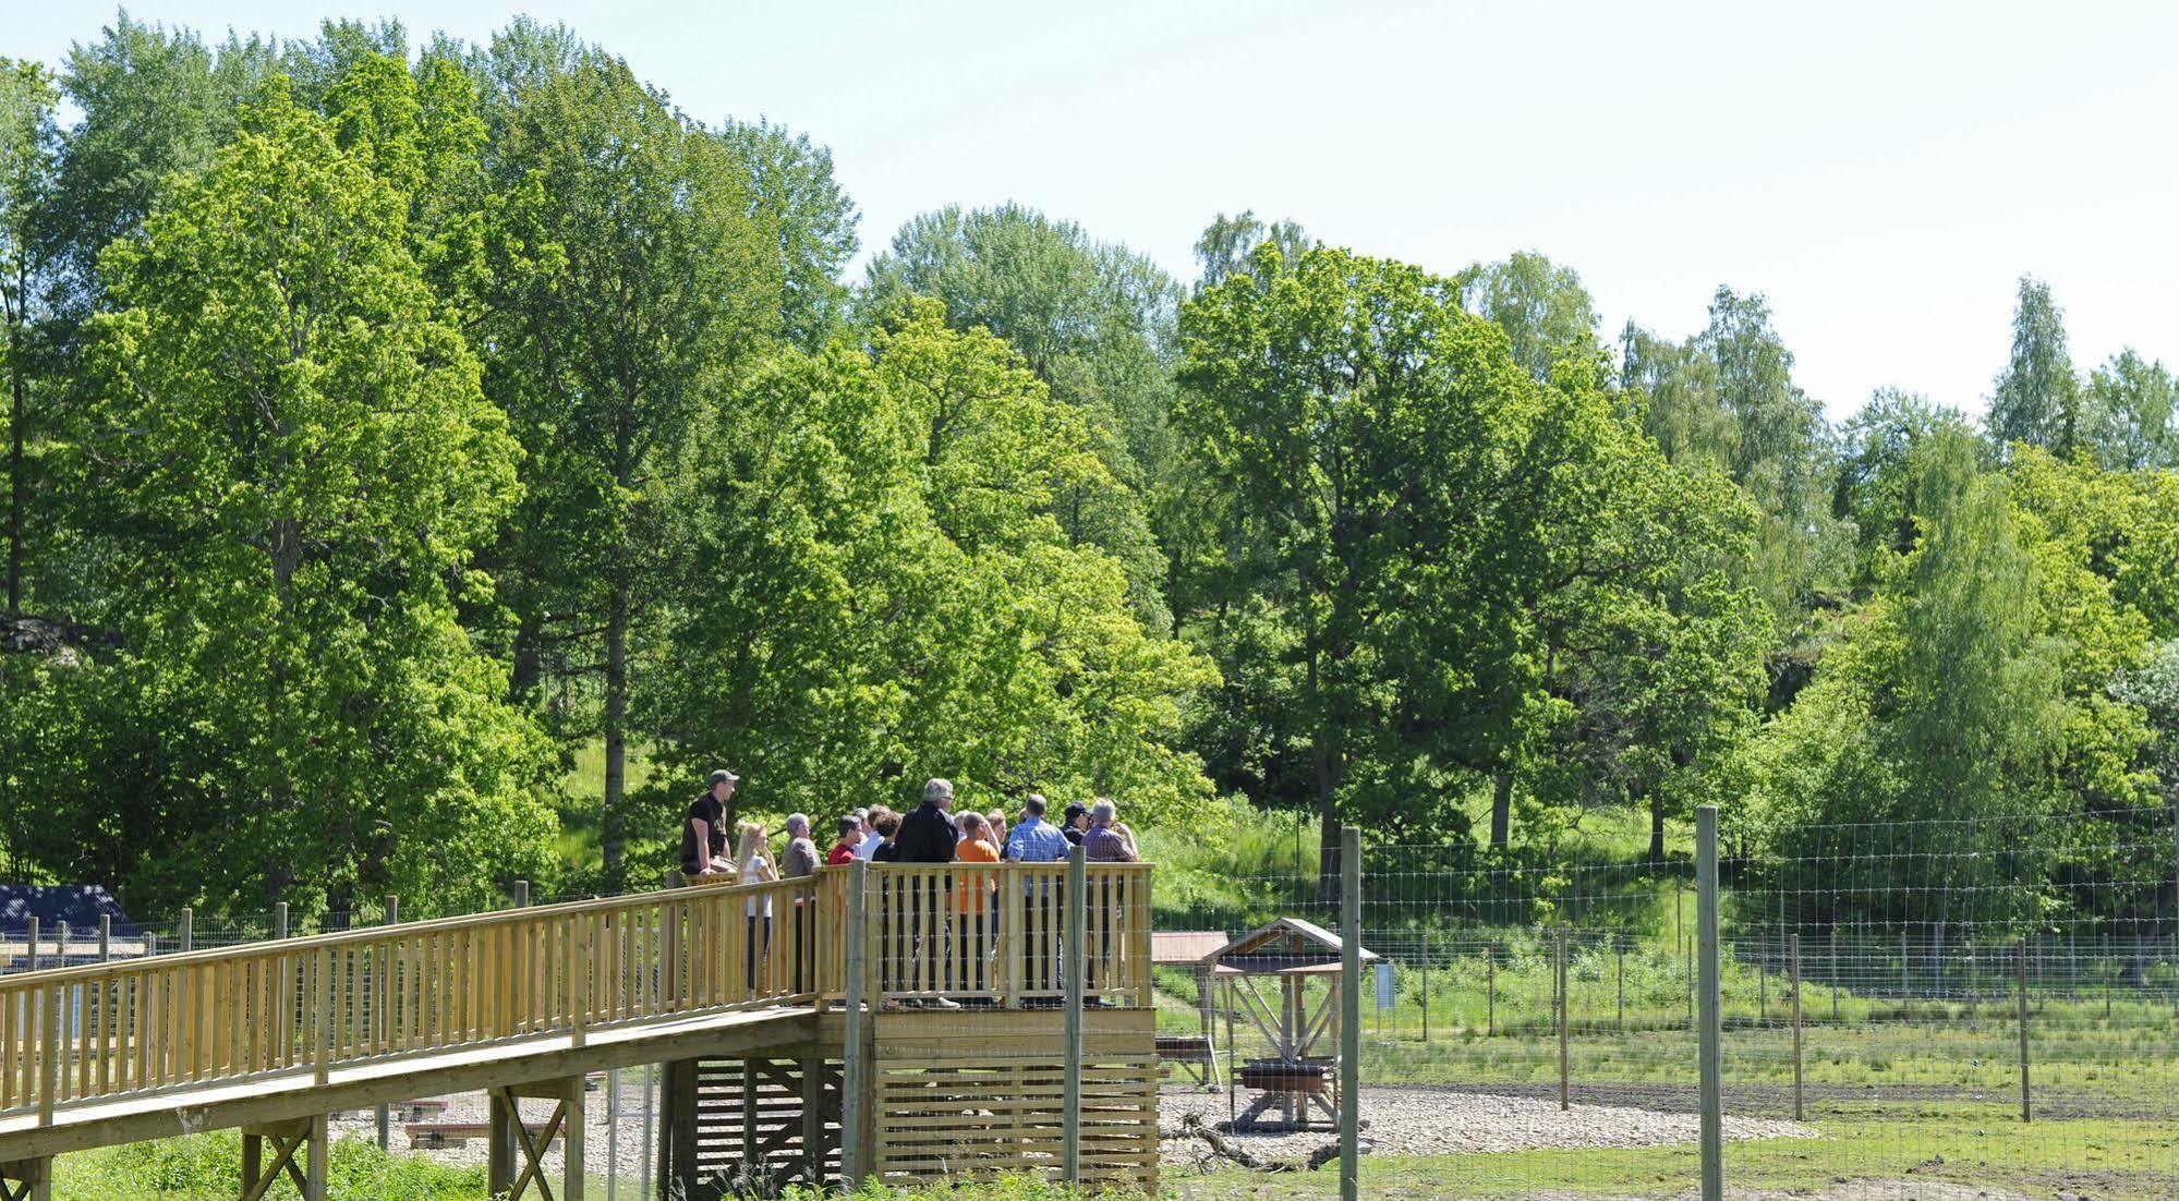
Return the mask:
{"type": "Polygon", "coordinates": [[[87,458],[144,730],[100,772],[142,824],[85,841],[126,889],[464,905],[540,865],[543,745],[455,619],[519,447],[407,209],[275,76],[100,264],[87,458]]]}

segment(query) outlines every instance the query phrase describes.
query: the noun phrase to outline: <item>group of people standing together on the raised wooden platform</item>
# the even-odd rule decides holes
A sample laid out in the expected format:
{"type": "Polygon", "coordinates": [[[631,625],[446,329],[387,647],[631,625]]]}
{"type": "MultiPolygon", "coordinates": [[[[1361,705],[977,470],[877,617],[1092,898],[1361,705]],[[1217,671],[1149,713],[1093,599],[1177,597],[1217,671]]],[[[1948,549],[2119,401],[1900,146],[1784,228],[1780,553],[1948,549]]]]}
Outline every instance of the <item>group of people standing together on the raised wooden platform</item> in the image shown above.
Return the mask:
{"type": "MultiPolygon", "coordinates": [[[[1013,822],[1007,822],[1007,815],[998,809],[989,813],[970,809],[957,815],[952,780],[939,778],[924,785],[922,804],[909,813],[896,813],[880,804],[841,815],[832,848],[821,857],[817,844],[811,839],[811,820],[802,813],[787,817],[787,846],[776,861],[771,857],[769,830],[763,822],[734,824],[734,854],[728,857],[728,804],[739,783],[741,776],[721,767],[710,774],[710,787],[689,802],[682,815],[680,848],[680,868],[689,883],[719,883],[726,878],[758,883],[813,876],[821,865],[845,868],[859,859],[869,863],[1057,863],[1066,861],[1074,846],[1083,848],[1083,859],[1090,863],[1135,863],[1140,859],[1135,833],[1120,822],[1120,811],[1111,800],[1100,798],[1094,804],[1068,804],[1059,824],[1052,824],[1048,820],[1048,802],[1031,793],[1013,822]]],[[[922,891],[904,896],[904,909],[915,911],[909,915],[911,922],[926,907],[937,909],[948,885],[920,883],[915,887],[937,887],[939,891],[930,896],[922,891]]],[[[991,883],[963,876],[952,887],[959,889],[959,896],[950,909],[957,913],[954,924],[961,929],[941,931],[937,942],[963,939],[957,946],[991,946],[1002,905],[991,896],[991,883]]],[[[750,898],[747,918],[750,976],[754,985],[758,946],[771,939],[771,900],[765,898],[758,902],[758,898],[750,898]]],[[[806,913],[798,911],[795,920],[804,922],[806,913]]],[[[1042,931],[1055,929],[1057,918],[1048,889],[1028,885],[1024,920],[1037,924],[1042,931]]],[[[922,946],[926,935],[902,931],[896,933],[896,939],[900,944],[891,963],[885,966],[887,974],[898,976],[913,957],[933,953],[933,948],[922,946]]],[[[1044,942],[1046,946],[1055,944],[1052,937],[1044,942]]],[[[948,959],[954,957],[948,955],[948,959]]],[[[961,955],[952,963],[948,981],[974,987],[976,981],[952,981],[952,976],[983,972],[983,955],[961,955]],[[974,966],[970,966],[972,959],[974,966]]],[[[1057,979],[1050,974],[1052,970],[1055,963],[1031,966],[1031,974],[1046,981],[1057,979]]],[[[944,996],[926,998],[924,1005],[939,1009],[959,1007],[959,1003],[944,996]]]]}

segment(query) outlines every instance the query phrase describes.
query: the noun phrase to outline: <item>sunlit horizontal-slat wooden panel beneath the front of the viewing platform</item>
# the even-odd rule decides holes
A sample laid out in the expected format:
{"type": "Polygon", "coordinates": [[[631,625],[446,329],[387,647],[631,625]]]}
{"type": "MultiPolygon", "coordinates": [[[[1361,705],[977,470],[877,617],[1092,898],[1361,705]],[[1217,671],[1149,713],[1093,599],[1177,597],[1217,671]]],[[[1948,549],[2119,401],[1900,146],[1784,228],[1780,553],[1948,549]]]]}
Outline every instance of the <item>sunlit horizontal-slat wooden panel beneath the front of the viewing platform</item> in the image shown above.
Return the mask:
{"type": "MultiPolygon", "coordinates": [[[[1050,1055],[880,1059],[876,1170],[887,1184],[946,1175],[1059,1179],[1066,1081],[1050,1055]]],[[[1081,1175],[1157,1188],[1157,1057],[1083,1066],[1081,1175]]]]}

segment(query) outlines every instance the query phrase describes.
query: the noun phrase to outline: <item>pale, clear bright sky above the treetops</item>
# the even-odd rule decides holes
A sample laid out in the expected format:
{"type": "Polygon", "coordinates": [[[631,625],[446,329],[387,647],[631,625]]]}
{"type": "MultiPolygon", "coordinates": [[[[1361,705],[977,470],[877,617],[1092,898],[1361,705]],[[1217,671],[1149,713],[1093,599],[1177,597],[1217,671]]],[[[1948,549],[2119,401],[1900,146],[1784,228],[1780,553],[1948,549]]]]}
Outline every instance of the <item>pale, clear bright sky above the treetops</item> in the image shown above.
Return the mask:
{"type": "MultiPolygon", "coordinates": [[[[865,257],[1007,201],[1183,279],[1240,209],[1445,272],[1541,251],[1606,338],[1763,292],[1833,416],[1885,386],[1981,412],[2024,272],[2079,368],[2179,360],[2168,2],[329,2],[129,11],[283,37],[397,17],[412,44],[567,22],[697,120],[828,144],[865,257]]],[[[111,17],[0,0],[0,54],[59,63],[111,17]]]]}

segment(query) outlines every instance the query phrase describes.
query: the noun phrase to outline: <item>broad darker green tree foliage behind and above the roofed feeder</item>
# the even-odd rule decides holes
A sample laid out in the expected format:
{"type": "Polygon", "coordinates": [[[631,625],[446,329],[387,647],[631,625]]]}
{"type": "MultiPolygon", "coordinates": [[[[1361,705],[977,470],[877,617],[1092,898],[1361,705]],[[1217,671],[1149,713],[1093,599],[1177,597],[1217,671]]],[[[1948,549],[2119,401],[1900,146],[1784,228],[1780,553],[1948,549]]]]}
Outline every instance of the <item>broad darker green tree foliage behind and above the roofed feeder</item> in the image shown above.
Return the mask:
{"type": "Polygon", "coordinates": [[[1499,778],[1504,846],[1536,741],[1702,674],[1636,680],[1626,656],[1739,645],[1704,615],[1741,608],[1702,562],[1728,556],[1730,493],[1673,473],[1599,368],[1538,384],[1453,281],[1264,244],[1183,307],[1181,333],[1177,423],[1220,504],[1196,615],[1231,665],[1212,763],[1316,811],[1327,870],[1340,820],[1458,828],[1477,774],[1499,778]],[[1678,558],[1682,538],[1702,551],[1678,558]]]}

